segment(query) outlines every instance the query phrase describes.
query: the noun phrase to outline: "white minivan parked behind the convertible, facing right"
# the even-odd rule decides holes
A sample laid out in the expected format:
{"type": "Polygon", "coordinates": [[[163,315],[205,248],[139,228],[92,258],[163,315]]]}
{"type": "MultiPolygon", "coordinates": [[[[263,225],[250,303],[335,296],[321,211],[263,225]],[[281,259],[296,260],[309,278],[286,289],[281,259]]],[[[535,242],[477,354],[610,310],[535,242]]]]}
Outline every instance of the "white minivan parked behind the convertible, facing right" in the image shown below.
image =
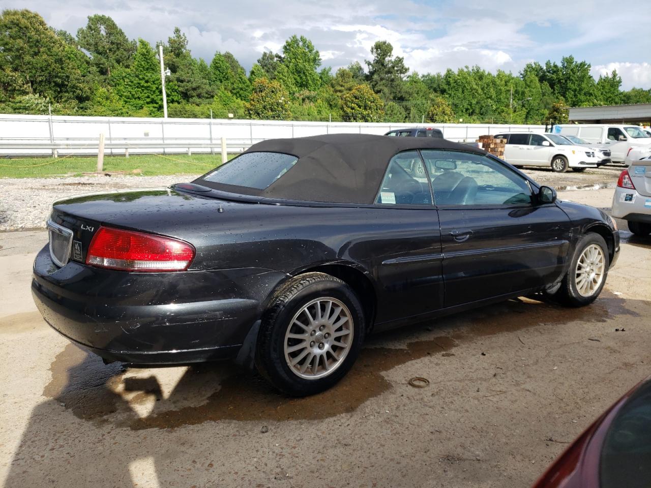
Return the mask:
{"type": "Polygon", "coordinates": [[[516,167],[546,166],[561,173],[570,168],[581,172],[598,167],[593,150],[575,146],[556,134],[505,132],[495,135],[495,139],[506,139],[504,159],[516,167]]]}

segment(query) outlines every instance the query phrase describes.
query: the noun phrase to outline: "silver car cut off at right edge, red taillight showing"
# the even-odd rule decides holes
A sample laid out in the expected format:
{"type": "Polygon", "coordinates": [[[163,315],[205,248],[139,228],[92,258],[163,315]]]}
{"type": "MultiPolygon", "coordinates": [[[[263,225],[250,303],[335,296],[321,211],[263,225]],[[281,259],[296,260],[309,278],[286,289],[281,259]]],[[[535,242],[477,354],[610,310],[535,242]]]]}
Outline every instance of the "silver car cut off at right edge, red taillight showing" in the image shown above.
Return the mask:
{"type": "Polygon", "coordinates": [[[632,161],[619,175],[613,217],[624,219],[636,236],[651,234],[651,157],[632,161]]]}

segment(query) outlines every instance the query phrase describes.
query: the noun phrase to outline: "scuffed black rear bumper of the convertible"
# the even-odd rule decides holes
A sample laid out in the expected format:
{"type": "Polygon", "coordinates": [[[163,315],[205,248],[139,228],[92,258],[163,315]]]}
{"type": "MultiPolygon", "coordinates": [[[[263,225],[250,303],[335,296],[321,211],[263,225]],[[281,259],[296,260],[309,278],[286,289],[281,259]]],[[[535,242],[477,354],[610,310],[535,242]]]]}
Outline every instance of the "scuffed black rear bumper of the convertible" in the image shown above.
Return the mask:
{"type": "Polygon", "coordinates": [[[32,293],[55,331],[107,360],[179,364],[235,357],[284,275],[256,268],[127,273],[36,256],[32,293]],[[271,288],[270,288],[271,287],[271,288]]]}

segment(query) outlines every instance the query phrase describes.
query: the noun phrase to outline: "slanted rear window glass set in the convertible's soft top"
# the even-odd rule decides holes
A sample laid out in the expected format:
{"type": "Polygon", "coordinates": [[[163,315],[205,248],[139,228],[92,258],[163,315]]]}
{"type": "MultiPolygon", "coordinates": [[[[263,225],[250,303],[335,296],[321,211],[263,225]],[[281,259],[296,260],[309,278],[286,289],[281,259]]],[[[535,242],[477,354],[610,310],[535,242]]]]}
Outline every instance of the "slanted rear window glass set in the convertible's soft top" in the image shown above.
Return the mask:
{"type": "Polygon", "coordinates": [[[279,152],[247,152],[208,173],[206,182],[264,190],[292,169],[298,157],[279,152]]]}

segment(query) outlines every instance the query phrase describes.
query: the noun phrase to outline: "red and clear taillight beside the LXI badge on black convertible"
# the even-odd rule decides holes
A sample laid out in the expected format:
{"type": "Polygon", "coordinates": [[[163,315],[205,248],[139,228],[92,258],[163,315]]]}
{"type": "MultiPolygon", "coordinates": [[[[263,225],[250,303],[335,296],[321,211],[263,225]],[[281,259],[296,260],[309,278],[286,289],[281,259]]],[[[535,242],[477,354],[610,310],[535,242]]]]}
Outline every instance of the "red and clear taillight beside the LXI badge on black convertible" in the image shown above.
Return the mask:
{"type": "Polygon", "coordinates": [[[90,241],[86,264],[122,271],[182,271],[195,248],[171,237],[100,227],[90,241]]]}

